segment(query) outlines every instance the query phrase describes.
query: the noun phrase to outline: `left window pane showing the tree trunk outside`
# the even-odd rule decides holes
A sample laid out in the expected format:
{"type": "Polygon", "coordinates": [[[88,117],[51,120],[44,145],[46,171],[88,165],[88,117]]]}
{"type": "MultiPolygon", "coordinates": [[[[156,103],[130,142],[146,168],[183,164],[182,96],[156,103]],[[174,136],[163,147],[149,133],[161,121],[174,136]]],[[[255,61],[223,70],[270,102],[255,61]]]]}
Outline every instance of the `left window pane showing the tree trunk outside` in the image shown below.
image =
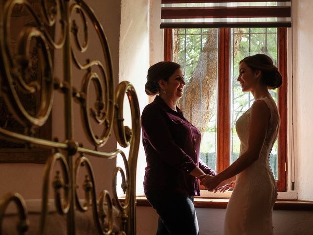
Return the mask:
{"type": "Polygon", "coordinates": [[[201,131],[201,160],[216,170],[218,29],[174,29],[173,45],[186,82],[179,108],[201,131]]]}

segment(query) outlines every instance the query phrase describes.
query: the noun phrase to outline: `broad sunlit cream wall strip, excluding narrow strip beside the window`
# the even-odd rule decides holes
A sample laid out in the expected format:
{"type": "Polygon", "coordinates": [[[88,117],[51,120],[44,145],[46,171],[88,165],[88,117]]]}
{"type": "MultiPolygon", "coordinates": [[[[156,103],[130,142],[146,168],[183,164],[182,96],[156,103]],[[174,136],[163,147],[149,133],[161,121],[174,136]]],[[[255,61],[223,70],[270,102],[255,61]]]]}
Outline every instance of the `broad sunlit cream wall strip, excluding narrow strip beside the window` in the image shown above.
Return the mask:
{"type": "MultiPolygon", "coordinates": [[[[148,103],[144,87],[149,68],[149,1],[122,0],[121,12],[119,82],[127,80],[133,84],[139,97],[139,106],[142,111],[148,103]]],[[[124,103],[125,124],[131,126],[130,108],[126,98],[124,103]]],[[[127,152],[125,151],[125,153],[127,152]]],[[[117,159],[117,161],[117,165],[123,166],[121,159],[117,159]]],[[[137,161],[137,194],[143,194],[144,167],[145,154],[140,142],[137,161]]]]}

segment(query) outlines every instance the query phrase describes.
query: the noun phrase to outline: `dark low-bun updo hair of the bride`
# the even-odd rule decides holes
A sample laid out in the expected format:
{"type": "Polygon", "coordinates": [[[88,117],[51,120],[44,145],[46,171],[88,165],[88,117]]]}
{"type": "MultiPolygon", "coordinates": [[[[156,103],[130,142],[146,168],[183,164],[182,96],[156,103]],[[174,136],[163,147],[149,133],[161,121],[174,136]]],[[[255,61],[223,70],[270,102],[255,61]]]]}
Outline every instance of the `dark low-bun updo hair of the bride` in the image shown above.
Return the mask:
{"type": "Polygon", "coordinates": [[[264,54],[251,55],[241,60],[239,64],[242,62],[245,62],[253,71],[261,71],[261,82],[268,88],[275,89],[282,85],[282,75],[269,56],[264,54]]]}

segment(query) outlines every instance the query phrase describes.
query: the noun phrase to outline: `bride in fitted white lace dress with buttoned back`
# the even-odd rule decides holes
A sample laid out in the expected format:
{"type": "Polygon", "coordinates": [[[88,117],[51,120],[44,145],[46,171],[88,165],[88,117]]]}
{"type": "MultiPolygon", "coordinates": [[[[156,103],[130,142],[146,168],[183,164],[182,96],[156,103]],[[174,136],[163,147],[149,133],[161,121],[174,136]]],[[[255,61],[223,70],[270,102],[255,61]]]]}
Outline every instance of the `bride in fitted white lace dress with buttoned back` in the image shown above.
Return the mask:
{"type": "Polygon", "coordinates": [[[264,54],[240,62],[238,81],[254,103],[236,122],[241,141],[239,158],[217,176],[201,176],[201,184],[217,191],[236,177],[224,222],[224,235],[272,235],[272,210],[277,188],[268,156],[277,139],[279,114],[268,89],[278,88],[282,76],[264,54]]]}

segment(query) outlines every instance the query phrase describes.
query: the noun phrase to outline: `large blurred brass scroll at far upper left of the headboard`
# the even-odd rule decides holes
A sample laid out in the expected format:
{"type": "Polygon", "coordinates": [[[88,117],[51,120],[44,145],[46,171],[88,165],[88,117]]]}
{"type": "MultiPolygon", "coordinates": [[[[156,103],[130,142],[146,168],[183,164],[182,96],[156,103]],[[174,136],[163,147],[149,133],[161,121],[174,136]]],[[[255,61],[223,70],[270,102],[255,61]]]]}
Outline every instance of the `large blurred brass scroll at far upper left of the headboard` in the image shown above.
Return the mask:
{"type": "MultiPolygon", "coordinates": [[[[4,66],[10,69],[3,76],[2,81],[2,96],[10,110],[10,112],[24,125],[24,126],[42,126],[47,120],[52,108],[52,59],[49,47],[43,34],[44,27],[26,27],[22,30],[21,36],[18,40],[18,50],[15,56],[9,46],[10,39],[10,18],[13,7],[16,4],[23,4],[33,16],[36,24],[41,25],[41,21],[37,14],[32,9],[31,5],[25,0],[11,0],[4,5],[3,11],[3,47],[6,53],[2,53],[4,66]],[[25,70],[30,66],[29,64],[29,47],[31,40],[35,40],[39,47],[39,56],[41,65],[41,81],[35,81],[30,84],[24,82],[25,70]],[[22,102],[16,92],[15,84],[27,93],[35,93],[41,90],[41,103],[39,104],[38,112],[35,116],[30,115],[22,105],[22,102]]],[[[2,45],[1,45],[2,46],[2,45]]]]}

